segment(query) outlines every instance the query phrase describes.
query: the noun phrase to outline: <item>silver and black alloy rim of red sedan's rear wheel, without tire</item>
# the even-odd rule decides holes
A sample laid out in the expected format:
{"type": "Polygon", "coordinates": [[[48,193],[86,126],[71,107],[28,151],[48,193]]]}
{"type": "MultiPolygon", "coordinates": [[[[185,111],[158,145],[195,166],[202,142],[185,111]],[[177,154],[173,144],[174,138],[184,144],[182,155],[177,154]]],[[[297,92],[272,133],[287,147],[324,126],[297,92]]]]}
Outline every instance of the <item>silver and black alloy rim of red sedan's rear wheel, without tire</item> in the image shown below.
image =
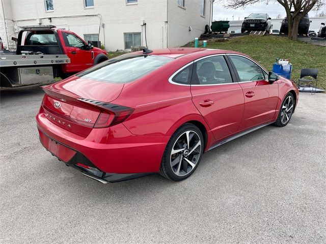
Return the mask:
{"type": "Polygon", "coordinates": [[[195,131],[185,131],[175,141],[170,157],[174,174],[184,176],[192,172],[201,156],[202,142],[195,131]]]}

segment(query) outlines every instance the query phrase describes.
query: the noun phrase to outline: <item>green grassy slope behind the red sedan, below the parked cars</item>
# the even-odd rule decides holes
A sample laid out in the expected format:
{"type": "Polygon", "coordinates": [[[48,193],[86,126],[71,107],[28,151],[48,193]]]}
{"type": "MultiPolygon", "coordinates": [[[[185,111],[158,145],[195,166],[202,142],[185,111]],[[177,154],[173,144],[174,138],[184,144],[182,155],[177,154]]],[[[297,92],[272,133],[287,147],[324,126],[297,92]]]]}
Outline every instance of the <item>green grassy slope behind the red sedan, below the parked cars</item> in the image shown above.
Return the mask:
{"type": "MultiPolygon", "coordinates": [[[[194,44],[186,46],[193,47],[194,44]]],[[[269,71],[276,57],[290,58],[293,65],[292,80],[296,82],[300,78],[301,69],[318,69],[317,86],[326,89],[326,47],[278,36],[243,36],[225,42],[208,41],[207,48],[246,53],[269,71]]]]}

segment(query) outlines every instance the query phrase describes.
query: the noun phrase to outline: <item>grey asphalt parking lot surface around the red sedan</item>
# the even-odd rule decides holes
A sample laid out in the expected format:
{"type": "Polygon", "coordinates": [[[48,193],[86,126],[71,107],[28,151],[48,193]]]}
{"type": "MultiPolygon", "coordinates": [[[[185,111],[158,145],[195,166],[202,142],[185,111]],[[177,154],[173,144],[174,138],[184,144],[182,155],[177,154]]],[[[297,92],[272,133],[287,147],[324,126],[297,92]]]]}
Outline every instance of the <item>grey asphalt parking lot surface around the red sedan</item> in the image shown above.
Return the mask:
{"type": "Polygon", "coordinates": [[[0,243],[325,243],[326,94],[204,154],[181,182],[102,185],[40,144],[39,87],[1,91],[0,243]]]}

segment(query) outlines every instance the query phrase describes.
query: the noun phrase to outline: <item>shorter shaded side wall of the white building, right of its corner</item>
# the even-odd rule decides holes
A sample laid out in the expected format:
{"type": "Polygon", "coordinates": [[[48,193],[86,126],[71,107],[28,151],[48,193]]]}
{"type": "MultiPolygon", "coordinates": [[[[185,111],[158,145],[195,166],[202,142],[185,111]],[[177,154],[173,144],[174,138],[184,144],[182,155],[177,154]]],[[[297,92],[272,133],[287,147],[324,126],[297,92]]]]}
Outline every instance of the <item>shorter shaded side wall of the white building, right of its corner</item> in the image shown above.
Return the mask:
{"type": "Polygon", "coordinates": [[[177,0],[168,2],[169,47],[179,47],[200,37],[205,32],[205,25],[210,25],[210,0],[206,0],[205,17],[200,13],[201,0],[185,0],[184,8],[178,7],[177,0]]]}

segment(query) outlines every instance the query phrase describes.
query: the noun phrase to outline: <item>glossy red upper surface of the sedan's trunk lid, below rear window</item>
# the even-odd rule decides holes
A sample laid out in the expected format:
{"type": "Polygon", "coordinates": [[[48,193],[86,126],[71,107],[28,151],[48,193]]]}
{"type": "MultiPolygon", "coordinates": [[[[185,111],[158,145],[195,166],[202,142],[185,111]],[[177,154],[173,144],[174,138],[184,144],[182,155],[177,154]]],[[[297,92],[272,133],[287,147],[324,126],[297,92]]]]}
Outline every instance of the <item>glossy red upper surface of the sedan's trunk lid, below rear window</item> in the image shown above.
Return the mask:
{"type": "Polygon", "coordinates": [[[94,81],[83,77],[71,76],[63,81],[44,86],[44,89],[72,98],[86,98],[101,102],[116,100],[124,84],[94,81]]]}

